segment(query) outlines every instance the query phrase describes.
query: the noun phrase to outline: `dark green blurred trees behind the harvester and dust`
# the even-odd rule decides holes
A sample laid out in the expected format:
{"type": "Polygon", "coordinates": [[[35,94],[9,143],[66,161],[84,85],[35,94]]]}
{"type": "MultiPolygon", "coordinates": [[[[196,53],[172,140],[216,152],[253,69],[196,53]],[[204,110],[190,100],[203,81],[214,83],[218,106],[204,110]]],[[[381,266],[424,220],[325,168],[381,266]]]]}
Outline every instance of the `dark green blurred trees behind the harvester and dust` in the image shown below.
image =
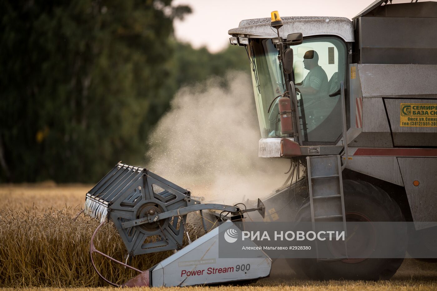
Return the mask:
{"type": "Polygon", "coordinates": [[[0,11],[0,181],[95,182],[119,160],[142,165],[181,85],[242,67],[235,48],[175,43],[173,19],[191,9],[171,0],[1,1],[0,11]]]}

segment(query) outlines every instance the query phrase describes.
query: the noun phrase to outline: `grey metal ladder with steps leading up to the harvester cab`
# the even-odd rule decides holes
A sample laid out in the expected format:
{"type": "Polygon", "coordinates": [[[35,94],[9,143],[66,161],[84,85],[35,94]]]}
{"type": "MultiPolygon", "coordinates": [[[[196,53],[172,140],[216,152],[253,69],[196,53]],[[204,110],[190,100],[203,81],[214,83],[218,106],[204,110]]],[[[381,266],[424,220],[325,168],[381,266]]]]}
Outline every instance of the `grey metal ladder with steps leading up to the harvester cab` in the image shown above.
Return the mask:
{"type": "MultiPolygon", "coordinates": [[[[339,155],[308,156],[306,162],[313,231],[318,231],[316,221],[343,222],[341,226],[335,225],[335,228],[337,231],[344,231],[347,236],[341,157],[339,155]]],[[[319,249],[324,247],[326,246],[323,242],[316,241],[317,254],[319,249]]],[[[344,248],[347,253],[346,244],[344,248]]]]}

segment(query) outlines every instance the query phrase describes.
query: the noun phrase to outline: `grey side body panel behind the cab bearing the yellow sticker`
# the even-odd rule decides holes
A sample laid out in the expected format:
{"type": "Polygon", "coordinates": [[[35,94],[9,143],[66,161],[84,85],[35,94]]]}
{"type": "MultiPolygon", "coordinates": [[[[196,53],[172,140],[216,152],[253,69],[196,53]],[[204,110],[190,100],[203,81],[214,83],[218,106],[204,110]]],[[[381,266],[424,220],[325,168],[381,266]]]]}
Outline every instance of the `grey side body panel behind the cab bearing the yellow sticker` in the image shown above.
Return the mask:
{"type": "Polygon", "coordinates": [[[350,127],[364,135],[348,135],[349,146],[436,145],[437,65],[351,64],[350,71],[350,127]]]}

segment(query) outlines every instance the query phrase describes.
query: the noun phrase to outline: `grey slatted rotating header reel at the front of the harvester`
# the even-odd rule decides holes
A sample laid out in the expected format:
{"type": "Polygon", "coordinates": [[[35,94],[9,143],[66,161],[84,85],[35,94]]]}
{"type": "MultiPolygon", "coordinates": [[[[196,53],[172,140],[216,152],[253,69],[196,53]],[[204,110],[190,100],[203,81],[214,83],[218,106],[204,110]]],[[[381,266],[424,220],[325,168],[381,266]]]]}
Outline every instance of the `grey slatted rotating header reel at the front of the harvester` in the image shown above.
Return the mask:
{"type": "Polygon", "coordinates": [[[200,204],[190,192],[139,167],[118,163],[87,193],[85,214],[105,222],[109,217],[129,255],[182,248],[187,215],[126,226],[149,215],[200,204]]]}

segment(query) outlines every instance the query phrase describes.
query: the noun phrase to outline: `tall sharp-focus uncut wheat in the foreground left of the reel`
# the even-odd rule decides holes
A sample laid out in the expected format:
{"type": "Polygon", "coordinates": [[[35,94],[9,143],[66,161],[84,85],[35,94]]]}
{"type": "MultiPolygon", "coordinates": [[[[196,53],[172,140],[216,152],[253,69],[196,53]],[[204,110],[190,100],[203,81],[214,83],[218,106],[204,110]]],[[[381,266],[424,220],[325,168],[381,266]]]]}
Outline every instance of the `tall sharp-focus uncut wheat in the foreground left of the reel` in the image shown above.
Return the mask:
{"type": "MultiPolygon", "coordinates": [[[[89,243],[98,222],[65,211],[0,211],[0,286],[101,286],[89,260],[89,243]]],[[[107,224],[95,239],[97,249],[123,261],[123,242],[107,224]]],[[[132,265],[146,270],[169,256],[136,256],[132,265]]],[[[123,283],[134,275],[119,264],[96,258],[97,268],[111,281],[123,283]]]]}

